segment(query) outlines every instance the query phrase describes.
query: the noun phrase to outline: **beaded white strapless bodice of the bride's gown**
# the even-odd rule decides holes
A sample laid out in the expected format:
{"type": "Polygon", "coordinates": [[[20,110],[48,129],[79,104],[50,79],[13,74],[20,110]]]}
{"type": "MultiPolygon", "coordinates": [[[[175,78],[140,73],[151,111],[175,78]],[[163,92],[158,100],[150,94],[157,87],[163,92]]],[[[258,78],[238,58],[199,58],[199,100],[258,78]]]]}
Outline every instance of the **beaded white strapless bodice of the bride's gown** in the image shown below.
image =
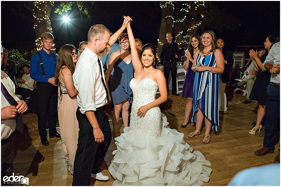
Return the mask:
{"type": "Polygon", "coordinates": [[[130,82],[133,91],[133,104],[130,119],[130,131],[139,129],[146,135],[158,138],[161,135],[161,113],[160,108],[150,108],[145,117],[137,116],[137,111],[141,106],[151,103],[155,100],[158,85],[150,78],[144,78],[139,83],[133,78],[130,82]]]}

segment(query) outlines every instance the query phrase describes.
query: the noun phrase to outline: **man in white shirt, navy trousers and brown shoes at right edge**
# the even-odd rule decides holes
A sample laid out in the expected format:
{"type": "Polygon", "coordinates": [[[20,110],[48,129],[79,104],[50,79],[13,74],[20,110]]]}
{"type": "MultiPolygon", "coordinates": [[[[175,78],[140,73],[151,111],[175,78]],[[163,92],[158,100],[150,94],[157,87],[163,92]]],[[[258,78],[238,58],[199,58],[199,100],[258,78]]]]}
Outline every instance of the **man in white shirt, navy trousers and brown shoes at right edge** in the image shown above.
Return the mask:
{"type": "MultiPolygon", "coordinates": [[[[279,42],[270,48],[263,65],[264,70],[271,73],[271,78],[266,90],[264,144],[254,152],[258,156],[274,152],[274,140],[280,131],[280,37],[279,42]]],[[[274,163],[280,164],[280,145],[274,163]]]]}

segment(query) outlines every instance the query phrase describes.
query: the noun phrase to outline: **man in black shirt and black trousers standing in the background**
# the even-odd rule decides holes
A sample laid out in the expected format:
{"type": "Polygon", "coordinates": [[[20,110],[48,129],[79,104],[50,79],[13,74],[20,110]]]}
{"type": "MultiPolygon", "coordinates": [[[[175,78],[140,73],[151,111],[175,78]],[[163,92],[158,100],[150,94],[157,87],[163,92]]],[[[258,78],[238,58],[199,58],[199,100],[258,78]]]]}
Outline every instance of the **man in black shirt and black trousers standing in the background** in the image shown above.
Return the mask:
{"type": "Polygon", "coordinates": [[[177,76],[177,62],[176,58],[178,58],[178,55],[176,53],[178,52],[178,45],[175,42],[172,42],[172,33],[168,32],[166,34],[166,39],[168,43],[163,45],[162,53],[160,56],[160,63],[161,63],[161,71],[163,71],[164,68],[164,76],[166,79],[166,85],[167,85],[167,93],[169,95],[169,85],[168,85],[168,79],[170,75],[170,71],[172,73],[172,94],[179,96],[176,92],[176,76],[177,76]]]}

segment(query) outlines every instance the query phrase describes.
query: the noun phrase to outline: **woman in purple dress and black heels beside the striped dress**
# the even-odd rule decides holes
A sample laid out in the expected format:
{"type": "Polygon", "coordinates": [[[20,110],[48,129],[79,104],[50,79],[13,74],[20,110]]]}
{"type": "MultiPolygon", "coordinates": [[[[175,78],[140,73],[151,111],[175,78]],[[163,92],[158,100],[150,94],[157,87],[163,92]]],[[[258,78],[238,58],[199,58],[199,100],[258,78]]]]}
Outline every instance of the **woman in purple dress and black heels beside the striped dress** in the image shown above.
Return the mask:
{"type": "Polygon", "coordinates": [[[193,102],[193,86],[194,86],[194,78],[195,73],[191,70],[193,65],[193,59],[195,57],[196,52],[200,49],[201,39],[198,34],[192,35],[189,40],[188,49],[185,52],[184,56],[184,65],[183,68],[186,71],[185,81],[182,87],[182,97],[186,98],[185,104],[185,121],[182,124],[182,128],[185,128],[186,125],[190,125],[190,112],[192,110],[192,102],[193,102]]]}

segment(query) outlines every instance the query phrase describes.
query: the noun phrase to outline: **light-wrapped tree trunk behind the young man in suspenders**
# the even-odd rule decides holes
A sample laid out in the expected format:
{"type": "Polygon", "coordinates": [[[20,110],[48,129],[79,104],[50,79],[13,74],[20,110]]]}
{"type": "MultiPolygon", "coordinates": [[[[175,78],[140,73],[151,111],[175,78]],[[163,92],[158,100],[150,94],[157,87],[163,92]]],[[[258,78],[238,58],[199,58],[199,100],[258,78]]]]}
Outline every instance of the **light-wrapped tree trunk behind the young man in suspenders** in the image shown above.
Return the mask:
{"type": "MultiPolygon", "coordinates": [[[[41,50],[41,35],[44,32],[50,32],[52,34],[52,27],[50,21],[50,12],[53,7],[53,3],[50,1],[37,1],[33,3],[33,20],[36,35],[37,50],[41,50]]],[[[56,53],[54,43],[52,45],[52,52],[56,53]]]]}

